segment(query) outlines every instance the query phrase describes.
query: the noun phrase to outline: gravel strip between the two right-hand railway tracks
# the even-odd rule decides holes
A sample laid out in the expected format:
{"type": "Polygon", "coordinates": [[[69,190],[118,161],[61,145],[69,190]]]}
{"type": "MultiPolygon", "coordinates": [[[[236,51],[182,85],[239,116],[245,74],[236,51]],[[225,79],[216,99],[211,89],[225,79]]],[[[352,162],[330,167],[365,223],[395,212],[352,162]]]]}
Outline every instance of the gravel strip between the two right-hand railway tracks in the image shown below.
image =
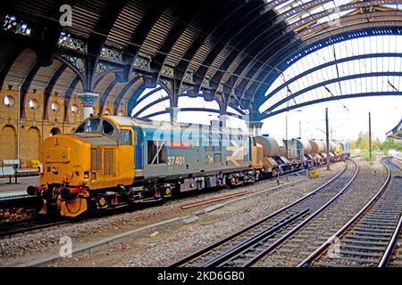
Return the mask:
{"type": "Polygon", "coordinates": [[[387,177],[385,167],[377,159],[373,165],[359,161],[356,180],[322,213],[258,262],[256,266],[297,266],[316,248],[331,238],[380,190],[387,177]]]}

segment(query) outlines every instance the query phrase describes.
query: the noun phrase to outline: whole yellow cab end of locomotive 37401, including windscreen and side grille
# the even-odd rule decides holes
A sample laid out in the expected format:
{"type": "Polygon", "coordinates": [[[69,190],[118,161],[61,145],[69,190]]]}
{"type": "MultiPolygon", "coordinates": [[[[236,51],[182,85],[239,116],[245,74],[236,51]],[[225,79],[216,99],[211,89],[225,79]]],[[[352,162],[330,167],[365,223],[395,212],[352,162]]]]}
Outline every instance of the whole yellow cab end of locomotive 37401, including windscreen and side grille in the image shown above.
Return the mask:
{"type": "Polygon", "coordinates": [[[132,142],[130,128],[107,117],[88,118],[75,134],[47,138],[42,142],[39,185],[27,190],[43,199],[40,214],[74,217],[91,206],[118,204],[119,191],[126,191],[134,179],[132,142]]]}

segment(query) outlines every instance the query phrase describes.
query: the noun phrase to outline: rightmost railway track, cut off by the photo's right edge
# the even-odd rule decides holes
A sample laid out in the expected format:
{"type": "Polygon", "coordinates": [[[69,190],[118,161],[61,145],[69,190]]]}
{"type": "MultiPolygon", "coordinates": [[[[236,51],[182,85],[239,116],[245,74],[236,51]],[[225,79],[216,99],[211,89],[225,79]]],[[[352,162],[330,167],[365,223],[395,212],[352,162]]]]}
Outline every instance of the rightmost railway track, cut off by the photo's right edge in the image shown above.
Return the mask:
{"type": "Polygon", "coordinates": [[[389,174],[381,190],[298,266],[402,265],[402,171],[389,158],[382,161],[389,174]]]}

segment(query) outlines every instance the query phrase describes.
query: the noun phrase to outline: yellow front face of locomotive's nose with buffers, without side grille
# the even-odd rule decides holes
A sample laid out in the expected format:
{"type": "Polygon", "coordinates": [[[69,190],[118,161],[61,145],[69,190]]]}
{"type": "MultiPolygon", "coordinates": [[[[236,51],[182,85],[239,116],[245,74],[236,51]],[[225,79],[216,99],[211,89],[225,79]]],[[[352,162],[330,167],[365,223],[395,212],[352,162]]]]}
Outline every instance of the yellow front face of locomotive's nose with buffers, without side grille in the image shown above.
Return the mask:
{"type": "Polygon", "coordinates": [[[54,135],[42,143],[39,185],[29,194],[44,200],[41,214],[79,216],[87,210],[91,145],[74,135],[54,135]]]}

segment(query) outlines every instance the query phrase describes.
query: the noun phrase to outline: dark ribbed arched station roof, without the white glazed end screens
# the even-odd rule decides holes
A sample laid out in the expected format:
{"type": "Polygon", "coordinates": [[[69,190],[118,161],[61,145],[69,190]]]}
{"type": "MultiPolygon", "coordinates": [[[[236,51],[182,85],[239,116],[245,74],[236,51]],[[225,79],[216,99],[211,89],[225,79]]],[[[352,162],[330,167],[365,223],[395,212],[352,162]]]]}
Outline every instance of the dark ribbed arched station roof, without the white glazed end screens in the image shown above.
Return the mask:
{"type": "Polygon", "coordinates": [[[263,101],[256,99],[301,50],[356,32],[400,32],[400,4],[13,0],[0,12],[0,86],[21,85],[22,94],[38,88],[47,97],[96,92],[102,108],[107,101],[118,107],[138,90],[160,84],[173,104],[183,92],[201,90],[205,100],[257,110],[263,101]],[[65,16],[69,7],[71,25],[65,16]]]}

